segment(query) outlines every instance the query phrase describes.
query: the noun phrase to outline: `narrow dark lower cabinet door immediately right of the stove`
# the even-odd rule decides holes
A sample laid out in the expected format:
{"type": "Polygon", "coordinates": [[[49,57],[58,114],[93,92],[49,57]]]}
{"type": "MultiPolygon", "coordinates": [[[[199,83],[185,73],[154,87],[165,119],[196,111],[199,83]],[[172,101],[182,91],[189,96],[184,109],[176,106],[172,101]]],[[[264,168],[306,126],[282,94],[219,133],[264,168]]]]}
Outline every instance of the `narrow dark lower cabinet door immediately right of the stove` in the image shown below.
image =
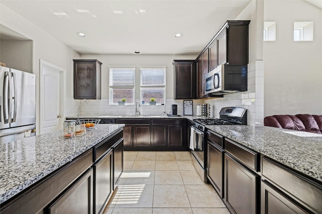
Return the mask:
{"type": "Polygon", "coordinates": [[[208,142],[207,177],[223,198],[223,150],[208,142]]]}

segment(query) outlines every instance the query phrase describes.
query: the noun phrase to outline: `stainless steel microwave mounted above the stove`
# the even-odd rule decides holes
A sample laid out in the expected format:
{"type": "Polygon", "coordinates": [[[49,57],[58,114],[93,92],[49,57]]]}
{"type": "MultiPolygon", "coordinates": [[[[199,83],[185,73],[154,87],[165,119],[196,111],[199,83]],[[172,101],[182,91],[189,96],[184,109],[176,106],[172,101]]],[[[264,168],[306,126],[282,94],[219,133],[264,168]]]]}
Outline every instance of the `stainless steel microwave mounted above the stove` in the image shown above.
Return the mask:
{"type": "Polygon", "coordinates": [[[206,94],[247,91],[247,66],[222,64],[205,77],[206,94]]]}

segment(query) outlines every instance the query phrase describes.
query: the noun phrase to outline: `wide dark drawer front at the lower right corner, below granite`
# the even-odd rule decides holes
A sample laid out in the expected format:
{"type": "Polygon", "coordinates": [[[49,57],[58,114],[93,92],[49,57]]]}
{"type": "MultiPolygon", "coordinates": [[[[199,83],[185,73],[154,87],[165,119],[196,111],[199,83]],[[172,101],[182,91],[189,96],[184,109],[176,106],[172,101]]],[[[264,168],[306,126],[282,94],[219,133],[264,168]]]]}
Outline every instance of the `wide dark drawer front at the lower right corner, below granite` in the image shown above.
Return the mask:
{"type": "Polygon", "coordinates": [[[263,177],[309,206],[315,213],[322,213],[322,186],[295,171],[263,157],[263,177]]]}

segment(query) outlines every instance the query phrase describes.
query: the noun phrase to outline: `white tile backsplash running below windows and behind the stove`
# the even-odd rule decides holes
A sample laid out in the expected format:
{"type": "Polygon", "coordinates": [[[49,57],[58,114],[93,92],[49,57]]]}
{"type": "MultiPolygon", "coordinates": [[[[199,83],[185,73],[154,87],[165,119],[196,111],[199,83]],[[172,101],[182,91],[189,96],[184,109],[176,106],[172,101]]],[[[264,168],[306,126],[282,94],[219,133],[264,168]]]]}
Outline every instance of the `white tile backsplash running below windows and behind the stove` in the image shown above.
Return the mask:
{"type": "MultiPolygon", "coordinates": [[[[65,116],[77,116],[79,104],[82,100],[66,98],[65,116]]],[[[136,99],[139,101],[139,99],[136,99]]],[[[211,117],[219,118],[222,107],[238,106],[248,109],[247,118],[250,126],[264,125],[264,63],[256,61],[248,65],[248,91],[225,95],[223,98],[193,100],[193,114],[197,105],[208,103],[211,105],[211,117]]],[[[162,115],[171,112],[171,105],[178,105],[178,114],[183,115],[183,100],[166,99],[165,105],[140,104],[141,115],[162,115]]],[[[134,115],[135,105],[110,105],[109,99],[89,100],[82,102],[79,115],[134,115]]]]}

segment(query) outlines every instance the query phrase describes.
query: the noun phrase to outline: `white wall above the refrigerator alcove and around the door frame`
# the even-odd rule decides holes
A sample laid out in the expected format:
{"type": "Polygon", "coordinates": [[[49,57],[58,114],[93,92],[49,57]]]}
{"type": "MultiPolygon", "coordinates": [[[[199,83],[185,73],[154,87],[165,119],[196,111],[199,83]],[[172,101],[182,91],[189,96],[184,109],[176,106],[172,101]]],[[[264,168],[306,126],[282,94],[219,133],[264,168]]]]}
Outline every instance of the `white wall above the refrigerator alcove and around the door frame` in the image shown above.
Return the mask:
{"type": "MultiPolygon", "coordinates": [[[[72,77],[73,57],[79,57],[72,49],[53,38],[48,33],[31,24],[0,3],[0,24],[33,41],[32,73],[36,74],[36,129],[39,129],[40,115],[40,77],[39,61],[45,60],[67,70],[67,78],[72,77]]],[[[6,63],[6,62],[4,62],[6,63]]],[[[72,82],[67,82],[72,84],[72,82]]]]}

